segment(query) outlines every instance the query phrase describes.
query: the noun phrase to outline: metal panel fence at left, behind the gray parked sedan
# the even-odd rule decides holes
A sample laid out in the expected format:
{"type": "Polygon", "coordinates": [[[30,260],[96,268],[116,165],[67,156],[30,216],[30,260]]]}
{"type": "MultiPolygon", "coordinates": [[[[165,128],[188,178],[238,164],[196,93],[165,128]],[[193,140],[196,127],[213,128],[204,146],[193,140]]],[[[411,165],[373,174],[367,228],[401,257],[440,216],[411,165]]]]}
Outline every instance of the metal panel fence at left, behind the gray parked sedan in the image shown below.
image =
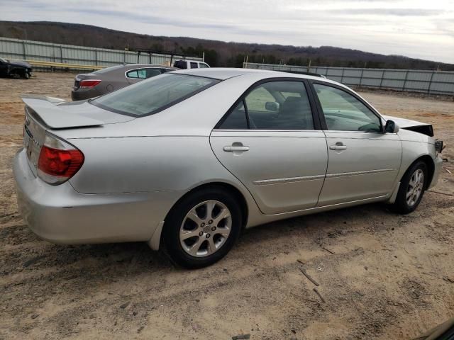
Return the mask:
{"type": "MultiPolygon", "coordinates": [[[[79,64],[101,67],[116,64],[165,64],[170,62],[169,55],[126,50],[108,50],[105,48],[60,45],[50,42],[0,38],[0,57],[5,59],[35,60],[41,62],[57,62],[60,64],[79,64]]],[[[173,60],[182,57],[174,56],[173,60]]],[[[201,60],[201,58],[191,58],[201,60]]],[[[45,66],[40,66],[45,67],[45,66]]]]}

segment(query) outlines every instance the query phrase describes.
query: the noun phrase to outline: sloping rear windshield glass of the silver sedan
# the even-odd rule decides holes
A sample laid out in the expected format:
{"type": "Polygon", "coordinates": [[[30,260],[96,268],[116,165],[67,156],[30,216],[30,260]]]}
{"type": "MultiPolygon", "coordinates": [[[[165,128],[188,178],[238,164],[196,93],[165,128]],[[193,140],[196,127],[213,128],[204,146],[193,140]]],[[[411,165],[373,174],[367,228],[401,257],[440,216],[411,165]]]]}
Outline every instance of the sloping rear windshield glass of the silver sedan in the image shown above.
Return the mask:
{"type": "Polygon", "coordinates": [[[186,74],[161,74],[90,101],[95,106],[140,117],[170,108],[219,80],[186,74]]]}

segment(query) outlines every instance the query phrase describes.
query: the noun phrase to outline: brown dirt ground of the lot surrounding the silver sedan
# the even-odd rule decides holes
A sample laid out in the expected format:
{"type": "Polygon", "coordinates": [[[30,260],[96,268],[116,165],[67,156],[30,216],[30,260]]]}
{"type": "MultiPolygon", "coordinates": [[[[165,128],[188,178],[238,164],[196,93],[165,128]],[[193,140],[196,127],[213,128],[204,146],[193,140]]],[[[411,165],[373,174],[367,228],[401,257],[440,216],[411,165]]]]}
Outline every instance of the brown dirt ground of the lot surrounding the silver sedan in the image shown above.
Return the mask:
{"type": "MultiPolygon", "coordinates": [[[[410,215],[372,204],[275,222],[197,271],[142,243],[38,239],[18,215],[11,171],[19,96],[69,98],[72,81],[0,79],[0,339],[411,339],[454,316],[452,162],[410,215]]],[[[384,114],[432,123],[454,159],[452,99],[362,95],[384,114]]]]}

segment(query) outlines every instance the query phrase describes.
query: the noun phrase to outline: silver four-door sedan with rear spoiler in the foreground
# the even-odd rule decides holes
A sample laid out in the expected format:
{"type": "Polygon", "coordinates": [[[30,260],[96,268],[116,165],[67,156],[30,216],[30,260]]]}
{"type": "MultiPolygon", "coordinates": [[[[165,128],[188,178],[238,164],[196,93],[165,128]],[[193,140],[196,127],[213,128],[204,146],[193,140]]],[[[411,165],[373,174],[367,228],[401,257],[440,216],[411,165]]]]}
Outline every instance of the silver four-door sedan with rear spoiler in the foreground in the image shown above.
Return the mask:
{"type": "Polygon", "coordinates": [[[198,268],[241,229],[363,203],[412,212],[441,171],[431,125],[321,77],[162,74],[91,101],[28,97],[18,205],[51,242],[148,242],[198,268]]]}

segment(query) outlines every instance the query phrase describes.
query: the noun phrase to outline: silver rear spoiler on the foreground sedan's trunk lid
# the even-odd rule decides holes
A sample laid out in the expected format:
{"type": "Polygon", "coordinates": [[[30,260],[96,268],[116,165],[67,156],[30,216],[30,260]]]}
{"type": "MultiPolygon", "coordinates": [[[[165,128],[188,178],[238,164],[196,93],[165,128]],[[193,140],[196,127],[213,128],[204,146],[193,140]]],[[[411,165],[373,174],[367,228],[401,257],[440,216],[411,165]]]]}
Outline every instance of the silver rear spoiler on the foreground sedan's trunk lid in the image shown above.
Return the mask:
{"type": "Polygon", "coordinates": [[[22,96],[26,103],[26,112],[42,121],[48,128],[82,128],[86,126],[102,125],[104,122],[80,114],[68,114],[58,106],[65,100],[48,96],[22,96]]]}

